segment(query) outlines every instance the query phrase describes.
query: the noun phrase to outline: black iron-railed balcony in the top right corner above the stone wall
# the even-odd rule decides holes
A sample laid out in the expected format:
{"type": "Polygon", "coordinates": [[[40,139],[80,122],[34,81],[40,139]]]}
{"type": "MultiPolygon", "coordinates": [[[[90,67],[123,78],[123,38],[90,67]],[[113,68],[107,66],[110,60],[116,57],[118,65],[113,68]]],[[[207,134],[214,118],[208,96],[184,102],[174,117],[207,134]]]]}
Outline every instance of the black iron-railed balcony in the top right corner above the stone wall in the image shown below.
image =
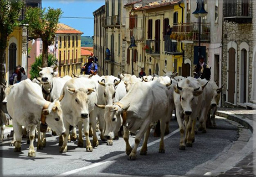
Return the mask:
{"type": "Polygon", "coordinates": [[[223,19],[234,23],[252,23],[252,0],[223,1],[223,19]]]}

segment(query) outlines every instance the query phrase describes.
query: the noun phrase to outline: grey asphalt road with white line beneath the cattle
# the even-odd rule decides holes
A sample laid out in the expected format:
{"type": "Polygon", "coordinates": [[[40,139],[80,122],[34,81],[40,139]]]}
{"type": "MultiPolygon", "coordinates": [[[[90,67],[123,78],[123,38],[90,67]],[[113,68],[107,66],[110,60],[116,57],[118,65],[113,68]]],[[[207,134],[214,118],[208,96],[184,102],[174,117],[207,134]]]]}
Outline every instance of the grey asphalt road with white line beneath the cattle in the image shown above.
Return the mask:
{"type": "MultiPolygon", "coordinates": [[[[85,141],[83,148],[77,147],[77,141],[71,142],[68,143],[68,152],[59,153],[58,137],[48,133],[47,147],[36,150],[34,158],[28,157],[29,144],[25,139],[21,153],[14,153],[14,147],[9,146],[11,139],[8,139],[0,144],[0,176],[184,175],[197,165],[216,159],[237,140],[238,128],[230,124],[230,121],[217,119],[216,124],[217,129],[207,129],[206,134],[198,132],[193,147],[181,151],[178,149],[178,124],[172,120],[170,134],[165,137],[165,154],[158,153],[160,138],[153,137],[151,130],[147,155],[140,155],[138,150],[135,161],[127,160],[122,138],[114,141],[113,146],[100,141],[100,146],[93,149],[93,152],[86,152],[85,141]]],[[[134,144],[134,138],[130,136],[131,145],[134,144]]]]}

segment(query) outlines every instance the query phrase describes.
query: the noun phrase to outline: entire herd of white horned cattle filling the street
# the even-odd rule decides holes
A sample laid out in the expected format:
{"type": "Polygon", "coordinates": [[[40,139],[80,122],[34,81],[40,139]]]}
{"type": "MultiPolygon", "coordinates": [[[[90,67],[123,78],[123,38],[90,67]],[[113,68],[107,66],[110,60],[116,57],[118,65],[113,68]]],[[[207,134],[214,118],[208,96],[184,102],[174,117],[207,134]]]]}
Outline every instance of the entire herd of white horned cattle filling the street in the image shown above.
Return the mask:
{"type": "MultiPolygon", "coordinates": [[[[12,118],[14,152],[21,152],[22,126],[28,131],[30,140],[29,157],[35,156],[34,139],[38,128],[37,148],[45,147],[45,125],[59,135],[59,152],[68,151],[67,142],[76,140],[83,147],[84,131],[86,151],[92,152],[99,145],[96,122],[99,122],[100,138],[112,145],[123,127],[126,154],[136,159],[137,147],[144,135],[141,155],[147,154],[147,140],[151,124],[160,120],[161,141],[159,153],[165,153],[163,137],[168,132],[168,123],[175,110],[180,127],[180,149],[192,147],[196,121],[198,130],[206,133],[206,121],[213,121],[222,87],[206,79],[184,78],[168,72],[166,76],[144,76],[131,74],[114,76],[57,77],[56,67],[40,69],[40,78],[26,79],[4,90],[3,104],[7,105],[12,118]],[[200,109],[198,109],[200,108],[200,109]],[[211,115],[210,115],[211,113],[211,115]],[[70,134],[73,126],[73,131],[70,134]],[[89,139],[93,131],[93,143],[89,139]],[[129,144],[129,131],[136,134],[134,148],[129,144]],[[185,133],[185,136],[184,136],[185,133]],[[71,136],[71,137],[70,137],[71,136]]],[[[4,117],[4,116],[1,116],[4,117]]],[[[3,141],[4,122],[0,142],[3,141]]],[[[156,127],[157,128],[157,127],[156,127]]],[[[156,130],[155,130],[156,131],[156,130]]]]}

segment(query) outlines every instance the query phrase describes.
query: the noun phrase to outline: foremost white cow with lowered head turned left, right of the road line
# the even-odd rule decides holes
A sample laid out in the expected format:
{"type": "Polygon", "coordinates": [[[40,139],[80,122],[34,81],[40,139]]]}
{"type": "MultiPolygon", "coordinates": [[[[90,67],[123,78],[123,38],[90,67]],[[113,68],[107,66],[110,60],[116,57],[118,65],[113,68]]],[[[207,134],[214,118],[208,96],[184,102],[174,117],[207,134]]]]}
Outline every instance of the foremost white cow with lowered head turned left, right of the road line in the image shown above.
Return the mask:
{"type": "Polygon", "coordinates": [[[105,109],[104,119],[106,121],[106,130],[104,135],[108,140],[114,138],[114,130],[118,126],[117,120],[123,120],[126,154],[129,155],[130,160],[135,160],[137,147],[144,133],[144,143],[140,154],[146,155],[150,124],[159,119],[161,122],[159,153],[165,153],[163,134],[170,115],[168,93],[166,85],[160,82],[137,82],[119,102],[113,105],[98,105],[100,108],[105,109]],[[132,133],[139,130],[135,137],[135,146],[133,149],[129,144],[129,132],[127,129],[132,133]]]}

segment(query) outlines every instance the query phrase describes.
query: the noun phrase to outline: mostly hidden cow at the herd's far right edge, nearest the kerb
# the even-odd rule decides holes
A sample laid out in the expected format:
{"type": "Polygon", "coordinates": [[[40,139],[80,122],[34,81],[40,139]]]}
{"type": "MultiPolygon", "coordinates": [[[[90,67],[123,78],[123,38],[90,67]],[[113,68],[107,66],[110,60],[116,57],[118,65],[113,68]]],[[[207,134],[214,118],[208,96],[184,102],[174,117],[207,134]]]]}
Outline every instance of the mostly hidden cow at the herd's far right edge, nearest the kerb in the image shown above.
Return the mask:
{"type": "Polygon", "coordinates": [[[208,123],[209,125],[213,125],[213,127],[216,128],[215,115],[218,109],[219,100],[221,99],[221,92],[224,84],[222,85],[221,88],[219,88],[218,85],[213,81],[209,81],[208,84],[211,84],[213,88],[211,108],[209,109],[209,112],[208,112],[208,123]]]}

